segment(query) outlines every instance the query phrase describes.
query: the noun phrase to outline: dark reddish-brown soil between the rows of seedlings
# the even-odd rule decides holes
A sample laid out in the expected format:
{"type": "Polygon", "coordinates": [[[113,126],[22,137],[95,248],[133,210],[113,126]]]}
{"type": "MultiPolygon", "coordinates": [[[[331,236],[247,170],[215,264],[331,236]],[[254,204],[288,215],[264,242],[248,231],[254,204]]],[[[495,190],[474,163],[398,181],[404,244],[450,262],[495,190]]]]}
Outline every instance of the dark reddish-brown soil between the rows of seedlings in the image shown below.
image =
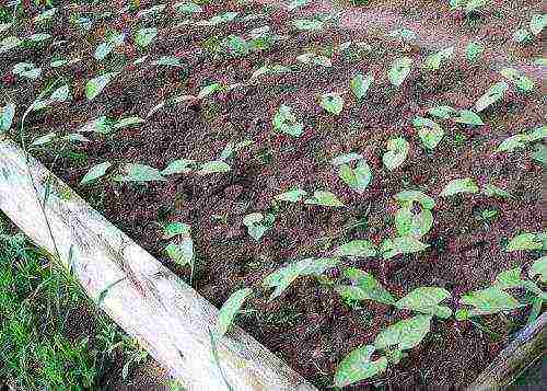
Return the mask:
{"type": "MultiPolygon", "coordinates": [[[[371,2],[369,11],[376,2],[371,2]]],[[[152,2],[143,3],[148,3],[143,4],[146,7],[152,2]]],[[[399,18],[393,13],[395,8],[404,13],[405,7],[417,7],[405,5],[407,2],[393,2],[389,7],[386,2],[381,3],[383,8],[377,10],[392,12],[392,18],[399,18]]],[[[434,26],[438,18],[434,12],[444,12],[444,5],[437,8],[435,3],[424,2],[423,9],[417,9],[418,13],[408,14],[434,26]]],[[[539,11],[533,1],[517,3],[539,11]]],[[[240,9],[246,13],[265,10],[260,5],[218,4],[206,7],[207,12],[201,18],[219,10],[240,9]]],[[[130,14],[116,14],[112,20],[97,22],[90,33],[82,34],[68,23],[70,12],[65,10],[63,18],[54,22],[50,31],[56,39],[67,39],[71,44],[10,51],[9,58],[0,58],[2,89],[20,107],[16,118],[20,120],[21,107],[26,107],[48,82],[62,77],[73,87],[74,99],[70,105],[59,105],[45,114],[28,117],[25,137],[31,140],[51,130],[73,133],[100,115],[146,117],[148,111],[165,97],[197,94],[199,88],[210,81],[226,84],[245,81],[264,64],[291,65],[302,53],[328,54],[348,39],[372,45],[373,51],[356,62],[349,62],[335,53],[330,69],[301,67],[289,74],[264,78],[256,85],[221,93],[198,106],[166,107],[140,127],[123,129],[109,137],[85,135],[91,141],[80,147],[35,151],[106,218],[187,280],[189,267],[172,264],[162,252],[166,242],[161,239],[159,223],[182,221],[190,225],[197,254],[194,287],[219,307],[234,290],[256,288],[257,297],[247,303],[247,310],[252,311],[241,317],[238,323],[316,386],[331,384],[336,366],[348,352],[373,342],[380,330],[409,313],[375,303],[351,309],[330,288],[311,277],[298,279],[282,297],[267,303],[268,292],[260,288],[260,283],[289,260],[328,255],[335,246],[351,239],[369,239],[380,244],[383,239],[394,235],[393,217],[397,207],[393,196],[396,193],[417,188],[435,196],[434,225],[422,239],[431,246],[417,255],[389,261],[366,258],[346,262],[345,265],[351,264],[372,273],[398,297],[419,286],[441,286],[453,292],[451,307],[456,308],[462,294],[488,285],[503,269],[526,266],[537,257],[537,253],[505,253],[503,246],[508,239],[521,231],[543,228],[543,168],[532,160],[532,150],[502,156],[492,156],[492,152],[508,136],[542,125],[545,102],[540,92],[536,89],[529,94],[510,93],[501,103],[482,113],[487,123],[482,127],[443,123],[446,135],[433,152],[422,148],[411,127],[411,119],[423,115],[433,105],[470,107],[493,81],[501,80],[494,70],[499,66],[494,62],[496,53],[490,56],[490,61],[475,66],[469,66],[459,56],[434,73],[415,68],[404,85],[396,89],[388,83],[385,72],[392,60],[403,55],[404,47],[377,32],[354,28],[356,19],[351,23],[344,19],[346,27],[342,23],[342,27],[323,33],[295,34],[287,24],[292,16],[268,5],[267,23],[272,31],[288,35],[289,39],[244,59],[219,59],[203,49],[206,39],[212,35],[243,33],[265,23],[235,22],[209,30],[174,28],[172,26],[182,19],[171,15],[172,11],[167,10],[154,22],[161,31],[151,46],[150,57],[176,55],[186,64],[187,74],[130,66],[97,99],[88,102],[83,94],[88,79],[101,70],[117,69],[117,61],[131,62],[140,56],[140,49],[129,43],[118,50],[115,59],[103,64],[94,60],[92,53],[102,42],[105,31],[129,31],[139,22],[130,14]],[[45,68],[40,82],[12,80],[10,77],[9,69],[13,64],[24,60],[47,64],[59,54],[80,56],[84,60],[55,72],[45,68]],[[349,93],[345,95],[346,105],[340,116],[333,117],[324,112],[317,104],[317,96],[324,92],[347,90],[356,71],[372,71],[376,77],[366,99],[356,102],[349,93]],[[305,124],[301,138],[274,133],[271,118],[281,103],[293,106],[305,124]],[[411,142],[411,150],[401,169],[388,172],[382,165],[382,153],[386,140],[395,135],[405,136],[411,142]],[[214,159],[226,142],[246,139],[255,143],[236,156],[232,171],[225,174],[176,175],[167,182],[148,185],[112,182],[101,182],[92,187],[79,185],[91,166],[104,161],[164,168],[179,158],[214,159]],[[352,151],[363,153],[373,170],[373,182],[363,195],[349,189],[330,165],[331,158],[352,151]],[[510,200],[484,195],[438,197],[450,180],[465,176],[475,177],[481,185],[494,183],[515,197],[510,200]],[[330,189],[347,207],[333,209],[298,204],[272,209],[274,196],[292,186],[307,191],[330,189]],[[477,219],[485,208],[496,208],[501,212],[488,227],[477,219]],[[252,211],[274,211],[277,215],[275,227],[259,243],[247,234],[242,223],[243,217],[252,211]],[[224,216],[224,220],[219,221],[214,215],[224,216]],[[363,218],[368,221],[364,229],[351,228],[363,218]]],[[[90,15],[100,13],[98,8],[74,7],[72,12],[75,11],[90,15]]],[[[500,23],[500,20],[508,21],[508,15],[516,15],[516,11],[500,9],[499,12],[503,18],[486,13],[478,22],[482,36],[488,37],[486,28],[494,23],[501,28],[497,36],[505,37],[503,42],[501,38],[489,41],[488,47],[497,47],[497,50],[502,47],[504,61],[511,59],[521,65],[540,57],[540,42],[522,49],[510,41],[521,16],[507,24],[500,23]]],[[[377,21],[382,23],[380,19],[377,21]]],[[[389,23],[393,24],[393,20],[389,23]]],[[[454,18],[440,28],[453,33],[454,38],[474,34],[468,23],[454,18]]],[[[40,31],[28,24],[21,26],[21,32],[30,34],[30,28],[40,31]]],[[[414,45],[405,55],[411,56],[415,64],[421,64],[439,37],[414,45]]],[[[339,272],[340,268],[331,272],[329,278],[336,278],[339,272]]],[[[496,356],[524,315],[524,311],[510,314],[507,319],[511,322],[508,323],[494,317],[486,319],[488,326],[502,335],[497,340],[467,322],[435,320],[432,332],[409,352],[409,357],[374,383],[410,389],[468,384],[496,356]]],[[[368,389],[370,384],[364,382],[354,389],[368,389]]]]}

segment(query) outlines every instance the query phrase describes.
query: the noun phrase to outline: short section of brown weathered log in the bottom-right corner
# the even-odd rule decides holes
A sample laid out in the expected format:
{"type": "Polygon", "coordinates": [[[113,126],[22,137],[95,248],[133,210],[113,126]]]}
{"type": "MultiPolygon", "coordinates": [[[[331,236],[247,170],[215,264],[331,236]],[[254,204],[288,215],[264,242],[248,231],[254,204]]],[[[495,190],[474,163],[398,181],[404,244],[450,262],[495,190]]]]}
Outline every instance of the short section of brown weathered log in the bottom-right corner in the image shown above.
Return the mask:
{"type": "Polygon", "coordinates": [[[529,365],[545,357],[547,312],[526,326],[469,386],[468,390],[503,390],[529,365]]]}

